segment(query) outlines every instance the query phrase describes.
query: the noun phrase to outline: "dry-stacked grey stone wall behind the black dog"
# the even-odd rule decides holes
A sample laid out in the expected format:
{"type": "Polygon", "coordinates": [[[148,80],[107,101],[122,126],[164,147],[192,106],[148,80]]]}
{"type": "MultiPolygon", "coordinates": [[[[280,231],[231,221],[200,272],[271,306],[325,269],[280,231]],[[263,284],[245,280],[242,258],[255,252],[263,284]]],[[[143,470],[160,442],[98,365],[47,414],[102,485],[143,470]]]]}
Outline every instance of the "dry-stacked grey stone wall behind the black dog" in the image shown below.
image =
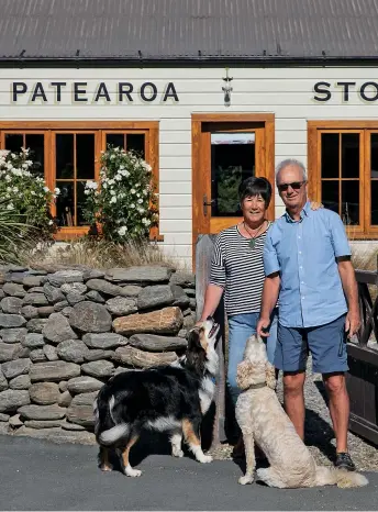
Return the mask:
{"type": "Polygon", "coordinates": [[[0,433],[93,443],[99,389],[177,359],[194,297],[167,267],[0,267],[0,433]]]}

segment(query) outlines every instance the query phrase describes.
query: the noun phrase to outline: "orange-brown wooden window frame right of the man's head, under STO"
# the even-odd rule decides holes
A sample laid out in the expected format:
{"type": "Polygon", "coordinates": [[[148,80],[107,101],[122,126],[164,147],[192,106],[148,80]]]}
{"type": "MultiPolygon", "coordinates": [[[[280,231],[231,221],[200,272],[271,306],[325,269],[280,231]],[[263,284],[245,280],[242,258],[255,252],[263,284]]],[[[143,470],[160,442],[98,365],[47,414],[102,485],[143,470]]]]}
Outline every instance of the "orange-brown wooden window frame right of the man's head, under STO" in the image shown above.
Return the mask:
{"type": "Polygon", "coordinates": [[[321,134],[360,133],[359,152],[359,219],[358,226],[346,226],[354,240],[376,240],[378,225],[371,225],[370,141],[371,133],[378,133],[377,121],[308,121],[308,174],[309,197],[321,201],[321,134]]]}

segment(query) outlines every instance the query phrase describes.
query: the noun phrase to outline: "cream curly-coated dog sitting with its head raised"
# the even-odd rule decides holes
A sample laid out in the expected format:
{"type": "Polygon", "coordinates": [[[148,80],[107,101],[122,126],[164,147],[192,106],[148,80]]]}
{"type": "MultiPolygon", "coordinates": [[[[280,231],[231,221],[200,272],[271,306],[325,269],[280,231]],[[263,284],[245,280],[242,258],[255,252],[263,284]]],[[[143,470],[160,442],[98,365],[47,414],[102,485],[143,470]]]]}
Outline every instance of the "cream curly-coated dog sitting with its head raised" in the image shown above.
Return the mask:
{"type": "Polygon", "coordinates": [[[254,443],[270,464],[270,467],[257,470],[257,480],[270,487],[363,487],[368,483],[358,472],[316,466],[278,401],[275,368],[268,363],[265,344],[257,336],[251,336],[246,343],[236,381],[243,390],[236,402],[236,420],[243,433],[246,456],[246,474],[240,478],[240,483],[254,481],[254,443]]]}

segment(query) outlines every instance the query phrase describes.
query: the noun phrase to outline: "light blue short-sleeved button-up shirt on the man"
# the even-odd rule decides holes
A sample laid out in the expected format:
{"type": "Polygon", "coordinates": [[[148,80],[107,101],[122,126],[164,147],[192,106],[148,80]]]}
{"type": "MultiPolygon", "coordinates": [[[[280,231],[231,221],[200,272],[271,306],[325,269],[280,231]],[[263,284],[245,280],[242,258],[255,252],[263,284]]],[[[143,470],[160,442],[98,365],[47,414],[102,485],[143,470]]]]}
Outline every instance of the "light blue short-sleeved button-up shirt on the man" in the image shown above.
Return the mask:
{"type": "Polygon", "coordinates": [[[286,327],[324,325],[346,313],[336,257],[351,255],[337,213],[307,202],[300,221],[286,212],[269,229],[264,246],[265,275],[279,272],[279,322],[286,327]]]}

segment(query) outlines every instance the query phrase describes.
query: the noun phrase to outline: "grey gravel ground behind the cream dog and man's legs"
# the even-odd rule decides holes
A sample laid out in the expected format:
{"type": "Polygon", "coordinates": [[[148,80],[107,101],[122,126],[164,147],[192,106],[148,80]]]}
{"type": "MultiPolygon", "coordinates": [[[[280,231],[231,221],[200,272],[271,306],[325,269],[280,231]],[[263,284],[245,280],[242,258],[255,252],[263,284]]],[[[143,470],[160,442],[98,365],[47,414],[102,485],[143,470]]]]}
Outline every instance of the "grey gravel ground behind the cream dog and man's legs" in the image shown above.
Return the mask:
{"type": "MultiPolygon", "coordinates": [[[[282,400],[282,380],[278,380],[277,394],[282,400]]],[[[320,374],[312,374],[311,361],[304,386],[305,397],[305,444],[318,464],[332,466],[335,439],[331,418],[324,400],[324,386],[320,374]]],[[[349,452],[357,468],[362,471],[378,471],[378,447],[349,432],[349,452]]],[[[212,450],[216,459],[232,459],[233,446],[224,444],[212,450]]]]}

